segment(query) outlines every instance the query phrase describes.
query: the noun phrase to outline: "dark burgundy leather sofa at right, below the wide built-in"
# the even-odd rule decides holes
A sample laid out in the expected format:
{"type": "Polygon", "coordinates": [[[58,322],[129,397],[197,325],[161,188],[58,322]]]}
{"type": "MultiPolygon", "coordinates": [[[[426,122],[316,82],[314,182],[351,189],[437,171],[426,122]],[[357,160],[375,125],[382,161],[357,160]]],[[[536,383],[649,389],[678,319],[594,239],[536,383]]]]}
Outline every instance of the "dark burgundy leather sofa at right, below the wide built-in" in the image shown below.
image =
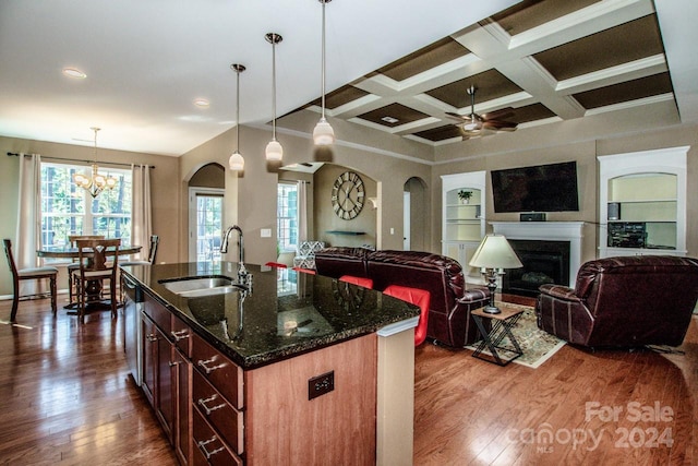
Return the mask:
{"type": "Polygon", "coordinates": [[[538,326],[586,347],[678,346],[698,299],[698,260],[670,255],[582,264],[575,288],[540,287],[538,326]]]}

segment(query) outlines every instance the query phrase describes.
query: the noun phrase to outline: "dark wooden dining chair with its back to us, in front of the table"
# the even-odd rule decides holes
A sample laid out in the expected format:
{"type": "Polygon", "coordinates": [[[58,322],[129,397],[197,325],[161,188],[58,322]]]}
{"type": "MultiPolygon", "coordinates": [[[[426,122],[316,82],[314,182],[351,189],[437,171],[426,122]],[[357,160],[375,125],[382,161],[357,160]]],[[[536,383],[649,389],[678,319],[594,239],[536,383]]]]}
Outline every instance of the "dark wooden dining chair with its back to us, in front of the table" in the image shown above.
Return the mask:
{"type": "Polygon", "coordinates": [[[117,316],[117,270],[119,262],[120,239],[79,239],[75,288],[77,290],[77,315],[85,322],[85,307],[92,302],[100,302],[104,285],[109,280],[109,304],[111,316],[117,316]],[[109,261],[107,261],[107,254],[109,261]]]}

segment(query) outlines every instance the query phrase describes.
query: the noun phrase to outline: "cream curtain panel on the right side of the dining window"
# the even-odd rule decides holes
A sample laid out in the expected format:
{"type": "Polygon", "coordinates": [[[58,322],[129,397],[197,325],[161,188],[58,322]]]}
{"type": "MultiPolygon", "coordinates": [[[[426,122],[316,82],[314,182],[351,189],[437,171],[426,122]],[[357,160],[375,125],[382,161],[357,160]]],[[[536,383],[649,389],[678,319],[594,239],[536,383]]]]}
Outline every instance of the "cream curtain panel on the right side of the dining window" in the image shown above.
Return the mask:
{"type": "Polygon", "coordinates": [[[151,167],[131,165],[131,244],[142,246],[141,252],[132,260],[147,261],[151,235],[153,235],[153,216],[151,208],[151,167]]]}

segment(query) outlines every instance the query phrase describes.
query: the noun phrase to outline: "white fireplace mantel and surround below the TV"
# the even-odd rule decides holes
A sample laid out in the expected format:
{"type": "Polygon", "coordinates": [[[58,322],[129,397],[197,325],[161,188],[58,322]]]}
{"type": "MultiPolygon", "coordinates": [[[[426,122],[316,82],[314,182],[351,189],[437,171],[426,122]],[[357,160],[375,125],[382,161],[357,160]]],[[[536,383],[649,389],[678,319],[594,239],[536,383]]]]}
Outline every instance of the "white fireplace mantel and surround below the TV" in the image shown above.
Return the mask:
{"type": "Polygon", "coordinates": [[[581,266],[583,222],[490,222],[495,234],[509,239],[569,241],[569,283],[571,287],[581,266]]]}

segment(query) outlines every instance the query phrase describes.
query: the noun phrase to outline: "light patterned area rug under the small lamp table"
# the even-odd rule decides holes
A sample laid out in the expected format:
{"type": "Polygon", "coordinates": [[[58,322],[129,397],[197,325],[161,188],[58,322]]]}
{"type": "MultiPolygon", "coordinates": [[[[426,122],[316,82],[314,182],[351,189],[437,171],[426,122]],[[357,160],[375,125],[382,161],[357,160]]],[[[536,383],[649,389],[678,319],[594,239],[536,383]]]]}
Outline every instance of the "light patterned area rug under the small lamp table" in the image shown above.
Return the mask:
{"type": "MultiPolygon", "coordinates": [[[[535,311],[533,308],[513,304],[510,302],[497,303],[497,306],[500,304],[506,306],[507,308],[524,309],[524,314],[518,320],[514,328],[512,328],[512,333],[521,347],[524,355],[512,362],[535,369],[557,353],[559,348],[565,346],[565,340],[538,328],[538,324],[535,323],[535,311]]],[[[477,346],[478,343],[474,343],[467,346],[467,348],[474,350],[477,346]]],[[[505,337],[500,346],[512,347],[512,344],[509,339],[505,337]]],[[[485,350],[483,353],[488,351],[485,350]]],[[[507,351],[501,351],[501,356],[503,357],[509,357],[510,355],[512,354],[507,354],[507,351]]]]}

